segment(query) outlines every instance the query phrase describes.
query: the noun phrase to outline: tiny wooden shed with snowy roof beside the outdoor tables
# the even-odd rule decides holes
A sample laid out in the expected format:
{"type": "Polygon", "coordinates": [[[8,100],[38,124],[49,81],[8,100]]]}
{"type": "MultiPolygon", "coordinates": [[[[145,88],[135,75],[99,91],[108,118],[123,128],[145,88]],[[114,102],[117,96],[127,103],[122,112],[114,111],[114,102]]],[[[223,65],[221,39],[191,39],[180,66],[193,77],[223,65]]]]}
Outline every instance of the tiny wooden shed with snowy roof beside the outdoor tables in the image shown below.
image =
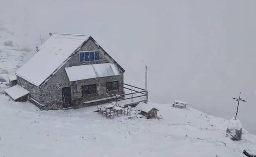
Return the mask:
{"type": "Polygon", "coordinates": [[[147,119],[156,118],[157,112],[159,111],[157,108],[149,104],[145,104],[144,102],[140,102],[139,104],[137,104],[136,108],[139,109],[141,111],[141,114],[146,116],[147,119]]]}

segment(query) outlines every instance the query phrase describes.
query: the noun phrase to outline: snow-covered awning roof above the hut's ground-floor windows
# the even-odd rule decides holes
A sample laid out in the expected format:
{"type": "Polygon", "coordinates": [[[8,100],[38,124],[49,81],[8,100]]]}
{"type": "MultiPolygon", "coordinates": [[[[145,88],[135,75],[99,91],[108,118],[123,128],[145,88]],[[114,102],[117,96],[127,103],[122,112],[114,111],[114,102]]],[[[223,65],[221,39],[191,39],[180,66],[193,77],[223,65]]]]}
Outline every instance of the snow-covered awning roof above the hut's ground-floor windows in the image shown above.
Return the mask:
{"type": "Polygon", "coordinates": [[[65,70],[69,77],[69,81],[120,75],[117,66],[112,63],[71,66],[65,68],[65,70]]]}

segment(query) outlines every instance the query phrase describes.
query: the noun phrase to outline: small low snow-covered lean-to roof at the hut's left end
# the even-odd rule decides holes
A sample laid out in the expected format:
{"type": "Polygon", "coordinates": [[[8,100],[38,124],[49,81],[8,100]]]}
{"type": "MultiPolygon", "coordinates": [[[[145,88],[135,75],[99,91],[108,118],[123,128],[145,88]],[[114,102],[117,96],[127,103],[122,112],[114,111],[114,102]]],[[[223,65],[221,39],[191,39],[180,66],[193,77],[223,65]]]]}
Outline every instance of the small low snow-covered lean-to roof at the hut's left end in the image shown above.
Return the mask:
{"type": "Polygon", "coordinates": [[[15,85],[12,86],[8,89],[5,89],[5,92],[13,99],[13,100],[17,100],[18,98],[30,93],[29,91],[27,91],[25,88],[23,88],[20,85],[15,85]]]}

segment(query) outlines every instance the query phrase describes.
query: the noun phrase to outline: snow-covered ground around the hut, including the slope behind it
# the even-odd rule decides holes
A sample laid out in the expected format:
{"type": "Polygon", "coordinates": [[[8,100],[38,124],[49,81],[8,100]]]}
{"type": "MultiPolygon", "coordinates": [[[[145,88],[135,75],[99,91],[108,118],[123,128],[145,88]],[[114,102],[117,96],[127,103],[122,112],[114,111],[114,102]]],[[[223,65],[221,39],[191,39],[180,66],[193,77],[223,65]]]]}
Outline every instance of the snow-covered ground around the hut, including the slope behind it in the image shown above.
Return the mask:
{"type": "MultiPolygon", "coordinates": [[[[0,91],[32,54],[15,35],[0,25],[0,91]],[[4,44],[9,40],[12,46],[4,44]]],[[[225,137],[225,119],[153,105],[163,119],[106,119],[95,106],[39,111],[0,95],[0,157],[245,157],[244,149],[256,148],[256,136],[245,129],[241,141],[225,137]]]]}

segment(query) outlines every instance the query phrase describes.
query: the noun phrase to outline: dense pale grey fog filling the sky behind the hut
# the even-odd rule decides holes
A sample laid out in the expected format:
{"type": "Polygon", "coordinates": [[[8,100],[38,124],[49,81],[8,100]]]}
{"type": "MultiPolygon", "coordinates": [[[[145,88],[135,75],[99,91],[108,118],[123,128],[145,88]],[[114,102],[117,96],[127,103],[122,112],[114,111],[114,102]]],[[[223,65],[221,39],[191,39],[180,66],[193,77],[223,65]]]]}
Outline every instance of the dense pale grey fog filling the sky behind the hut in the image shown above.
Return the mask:
{"type": "MultiPolygon", "coordinates": [[[[49,32],[92,35],[149,101],[182,100],[210,115],[238,119],[256,134],[256,1],[1,0],[0,22],[27,33],[35,50],[49,32]]],[[[15,39],[14,39],[15,42],[15,39]]]]}

